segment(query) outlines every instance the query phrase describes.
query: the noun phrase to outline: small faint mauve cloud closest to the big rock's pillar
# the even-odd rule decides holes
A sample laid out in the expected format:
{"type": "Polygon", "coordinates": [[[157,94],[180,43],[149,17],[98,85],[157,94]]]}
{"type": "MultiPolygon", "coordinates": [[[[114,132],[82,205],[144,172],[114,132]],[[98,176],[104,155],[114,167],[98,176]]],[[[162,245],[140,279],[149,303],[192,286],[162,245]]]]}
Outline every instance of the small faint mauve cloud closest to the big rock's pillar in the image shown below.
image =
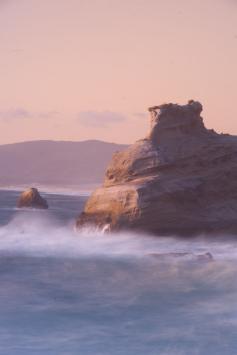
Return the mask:
{"type": "Polygon", "coordinates": [[[127,119],[125,115],[112,111],[82,111],[77,118],[81,124],[92,127],[107,127],[127,119]]]}

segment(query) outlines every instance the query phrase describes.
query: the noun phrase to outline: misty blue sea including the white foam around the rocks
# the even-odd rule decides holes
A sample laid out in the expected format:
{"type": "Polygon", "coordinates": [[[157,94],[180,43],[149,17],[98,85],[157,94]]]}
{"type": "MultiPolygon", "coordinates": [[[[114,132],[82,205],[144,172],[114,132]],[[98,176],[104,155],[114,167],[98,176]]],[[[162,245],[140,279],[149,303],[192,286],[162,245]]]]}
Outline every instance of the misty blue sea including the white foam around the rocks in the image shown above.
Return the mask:
{"type": "Polygon", "coordinates": [[[77,233],[85,197],[17,196],[0,191],[0,354],[237,354],[234,237],[77,233]]]}

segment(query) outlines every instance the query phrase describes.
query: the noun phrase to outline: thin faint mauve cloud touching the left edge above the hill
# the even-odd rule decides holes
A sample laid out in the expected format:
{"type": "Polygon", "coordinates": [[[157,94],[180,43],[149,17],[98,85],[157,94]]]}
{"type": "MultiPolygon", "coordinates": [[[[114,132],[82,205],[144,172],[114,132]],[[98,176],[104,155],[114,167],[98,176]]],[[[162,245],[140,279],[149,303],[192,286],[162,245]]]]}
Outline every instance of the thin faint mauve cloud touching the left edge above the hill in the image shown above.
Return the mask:
{"type": "Polygon", "coordinates": [[[50,119],[58,115],[57,111],[40,111],[34,112],[24,108],[12,108],[0,110],[0,120],[4,122],[12,122],[18,120],[43,118],[50,119]]]}

